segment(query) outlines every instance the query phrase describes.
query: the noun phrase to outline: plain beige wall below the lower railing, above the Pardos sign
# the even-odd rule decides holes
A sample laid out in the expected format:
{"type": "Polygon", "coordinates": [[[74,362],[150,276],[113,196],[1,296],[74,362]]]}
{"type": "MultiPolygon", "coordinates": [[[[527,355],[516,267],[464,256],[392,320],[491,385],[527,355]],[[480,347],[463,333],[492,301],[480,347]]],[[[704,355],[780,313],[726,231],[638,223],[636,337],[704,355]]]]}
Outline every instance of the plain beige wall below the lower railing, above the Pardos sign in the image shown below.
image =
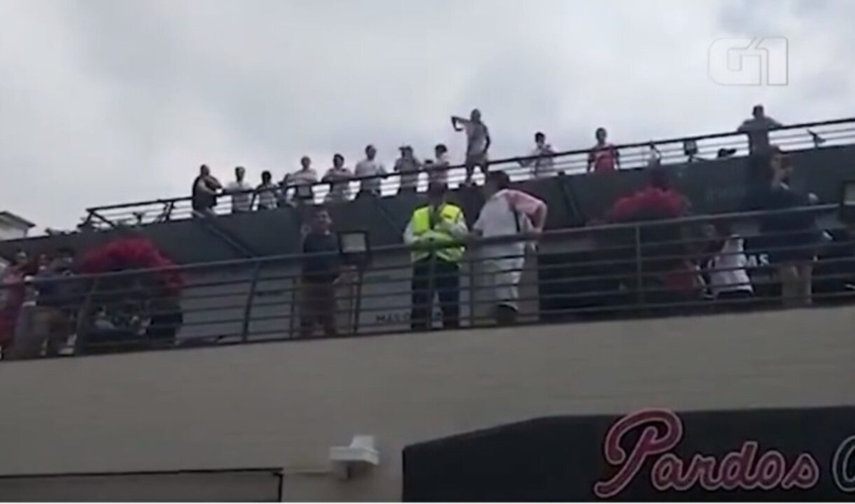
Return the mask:
{"type": "Polygon", "coordinates": [[[855,404],[855,308],[0,364],[0,474],[284,466],[292,500],[396,500],[400,452],[552,414],[855,404]],[[368,478],[317,474],[374,434],[368,478]]]}

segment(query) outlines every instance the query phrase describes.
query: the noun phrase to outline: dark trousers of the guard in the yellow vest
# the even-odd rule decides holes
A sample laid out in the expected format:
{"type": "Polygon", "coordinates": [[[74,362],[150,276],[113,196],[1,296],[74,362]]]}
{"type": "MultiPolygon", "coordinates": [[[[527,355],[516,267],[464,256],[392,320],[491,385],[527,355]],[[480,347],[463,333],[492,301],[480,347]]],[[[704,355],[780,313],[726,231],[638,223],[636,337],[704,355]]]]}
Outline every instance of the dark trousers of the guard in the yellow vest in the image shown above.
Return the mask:
{"type": "Polygon", "coordinates": [[[429,329],[433,319],[433,295],[439,297],[444,329],[460,327],[460,267],[455,262],[422,259],[413,263],[413,304],[410,326],[429,329]]]}

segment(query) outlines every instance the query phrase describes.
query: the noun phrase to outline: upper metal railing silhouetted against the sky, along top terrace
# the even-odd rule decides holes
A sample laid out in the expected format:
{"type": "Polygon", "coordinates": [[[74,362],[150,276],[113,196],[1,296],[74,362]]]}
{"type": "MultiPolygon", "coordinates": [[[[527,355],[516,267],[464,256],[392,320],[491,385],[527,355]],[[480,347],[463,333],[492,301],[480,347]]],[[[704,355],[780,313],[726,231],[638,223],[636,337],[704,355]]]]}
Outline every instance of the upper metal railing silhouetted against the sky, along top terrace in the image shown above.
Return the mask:
{"type": "MultiPolygon", "coordinates": [[[[782,149],[797,150],[818,147],[852,144],[855,138],[855,118],[826,120],[785,126],[770,132],[771,141],[781,146],[782,149]]],[[[719,158],[719,155],[727,154],[746,155],[748,142],[745,133],[721,132],[710,135],[700,135],[682,138],[667,138],[655,141],[640,142],[635,144],[617,145],[620,154],[621,169],[633,169],[645,167],[651,155],[651,145],[657,149],[660,162],[668,165],[684,162],[711,161],[719,158]],[[687,155],[684,146],[687,142],[694,142],[698,151],[693,155],[687,155]]],[[[553,173],[566,174],[584,173],[588,164],[588,155],[591,149],[575,149],[558,152],[552,155],[553,173]]],[[[502,169],[508,172],[511,179],[516,181],[533,178],[532,168],[523,167],[524,161],[534,161],[532,156],[519,156],[507,159],[490,161],[491,170],[502,169]]],[[[465,168],[462,164],[454,165],[449,169],[449,183],[451,186],[463,182],[465,168]]],[[[381,193],[390,196],[398,190],[398,173],[386,173],[386,175],[369,177],[351,177],[348,183],[348,193],[356,195],[363,180],[380,179],[381,193]]],[[[480,175],[476,174],[476,178],[480,175]]],[[[189,182],[189,179],[188,179],[189,182]]],[[[427,185],[427,175],[422,175],[419,181],[419,190],[424,190],[427,185]]],[[[284,188],[293,191],[295,186],[284,188]]],[[[312,186],[313,201],[324,202],[329,193],[330,183],[319,182],[312,186]]],[[[249,191],[254,194],[255,190],[249,191]]],[[[255,208],[255,207],[253,207],[255,208]]],[[[231,198],[227,195],[219,196],[218,204],[213,208],[215,214],[231,213],[231,198]]],[[[86,209],[85,225],[97,228],[109,228],[120,225],[137,226],[169,220],[182,220],[192,217],[192,205],[190,196],[180,196],[166,199],[156,199],[145,202],[119,203],[103,205],[86,209]]]]}

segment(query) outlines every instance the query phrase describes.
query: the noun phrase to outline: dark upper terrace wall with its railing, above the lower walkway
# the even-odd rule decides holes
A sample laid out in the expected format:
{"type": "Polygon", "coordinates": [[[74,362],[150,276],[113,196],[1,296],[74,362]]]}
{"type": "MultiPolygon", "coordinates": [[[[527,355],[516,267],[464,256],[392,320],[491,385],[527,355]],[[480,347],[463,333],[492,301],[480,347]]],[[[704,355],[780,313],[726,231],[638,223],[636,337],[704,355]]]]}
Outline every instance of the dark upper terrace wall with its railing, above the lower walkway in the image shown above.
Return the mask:
{"type": "MultiPolygon", "coordinates": [[[[837,120],[811,125],[790,126],[772,133],[773,142],[793,152],[796,172],[793,184],[815,193],[822,202],[836,202],[840,183],[852,179],[855,166],[855,120],[837,120]],[[807,129],[819,132],[827,141],[813,144],[807,129]]],[[[741,209],[746,197],[749,169],[746,162],[746,140],[743,135],[720,133],[694,138],[657,141],[675,187],[693,204],[696,214],[720,214],[741,209]],[[699,154],[687,161],[682,152],[684,140],[693,139],[699,154]],[[734,149],[732,157],[718,159],[717,151],[734,149]]],[[[602,218],[619,197],[643,184],[648,144],[619,146],[622,167],[609,176],[587,176],[584,171],[587,151],[575,150],[555,157],[557,169],[566,174],[551,179],[530,179],[519,166],[519,159],[495,161],[491,169],[504,169],[513,174],[516,184],[543,198],[550,207],[547,229],[584,226],[602,218]]],[[[452,186],[461,178],[462,168],[452,170],[452,186]]],[[[355,200],[329,205],[334,225],[339,231],[367,231],[374,248],[401,243],[401,233],[412,209],[423,202],[422,196],[395,195],[397,176],[384,181],[385,196],[373,200],[355,200]]],[[[357,182],[353,183],[353,189],[357,182]]],[[[316,187],[316,201],[321,202],[325,185],[316,187]]],[[[475,220],[481,208],[481,195],[476,190],[455,190],[451,200],[463,206],[468,219],[475,220]]],[[[203,229],[192,220],[188,197],[155,202],[125,203],[90,208],[87,220],[93,231],[65,236],[35,237],[0,242],[0,255],[11,257],[16,249],[31,253],[70,246],[79,251],[120,236],[130,227],[150,237],[174,261],[192,264],[227,261],[251,255],[296,254],[299,251],[301,212],[295,208],[251,214],[231,214],[229,198],[221,196],[216,208],[219,234],[203,229]],[[234,243],[239,243],[235,247],[234,243]]]]}

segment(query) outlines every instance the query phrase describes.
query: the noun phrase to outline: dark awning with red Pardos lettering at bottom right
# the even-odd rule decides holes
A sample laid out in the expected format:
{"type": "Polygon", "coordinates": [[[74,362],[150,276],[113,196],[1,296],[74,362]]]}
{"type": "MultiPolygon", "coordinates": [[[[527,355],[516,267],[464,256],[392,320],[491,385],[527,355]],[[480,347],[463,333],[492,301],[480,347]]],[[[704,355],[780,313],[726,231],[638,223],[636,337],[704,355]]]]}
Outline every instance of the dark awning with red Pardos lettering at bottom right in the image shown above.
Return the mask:
{"type": "Polygon", "coordinates": [[[404,449],[404,501],[596,500],[855,500],[855,407],[551,417],[404,449]]]}

